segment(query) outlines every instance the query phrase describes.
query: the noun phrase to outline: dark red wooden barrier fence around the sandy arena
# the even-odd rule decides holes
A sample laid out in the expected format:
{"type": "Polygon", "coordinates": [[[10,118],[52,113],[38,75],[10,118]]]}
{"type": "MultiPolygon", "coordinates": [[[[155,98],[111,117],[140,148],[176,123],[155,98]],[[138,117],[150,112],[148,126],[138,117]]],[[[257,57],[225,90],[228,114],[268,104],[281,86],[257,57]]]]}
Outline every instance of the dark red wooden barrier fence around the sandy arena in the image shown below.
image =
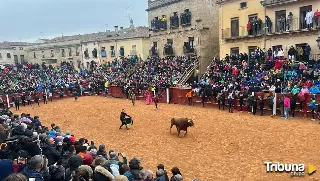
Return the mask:
{"type": "MultiPolygon", "coordinates": [[[[141,94],[138,92],[136,88],[130,87],[131,90],[133,90],[136,93],[137,100],[145,100],[145,95],[144,92],[141,94]]],[[[125,92],[122,91],[122,89],[118,86],[109,86],[108,89],[108,96],[110,97],[115,97],[115,98],[126,98],[125,92]]],[[[164,89],[161,92],[160,100],[159,102],[161,103],[171,103],[171,104],[180,104],[180,105],[188,105],[188,98],[186,97],[186,94],[191,90],[191,88],[184,88],[184,87],[171,87],[164,89]]],[[[43,91],[39,91],[39,98],[41,101],[42,100],[42,94],[43,91]]],[[[88,92],[83,93],[84,96],[88,95],[88,92]]],[[[104,93],[102,93],[104,95],[104,93]]],[[[280,106],[279,102],[280,99],[283,96],[287,96],[289,98],[292,97],[292,94],[279,94],[276,93],[274,96],[274,106],[273,109],[269,108],[268,100],[266,99],[267,96],[269,95],[274,95],[273,92],[255,92],[255,96],[261,96],[261,98],[264,99],[264,114],[265,115],[280,115],[280,106]]],[[[13,105],[12,103],[12,97],[13,96],[20,96],[20,94],[9,94],[9,95],[0,95],[5,107],[11,107],[13,105]],[[8,106],[11,104],[10,106],[8,106]]],[[[72,92],[70,91],[65,91],[64,92],[64,97],[70,97],[73,96],[72,92]]],[[[53,94],[53,99],[59,99],[60,93],[54,93],[53,94]]],[[[309,102],[311,101],[312,98],[316,99],[316,103],[320,101],[320,95],[312,95],[312,94],[305,94],[305,100],[302,102],[302,111],[300,110],[300,100],[297,99],[296,103],[296,109],[295,109],[295,115],[299,117],[311,117],[311,110],[308,107],[309,102]]],[[[31,97],[32,102],[34,102],[34,94],[31,97]]],[[[225,109],[228,109],[228,102],[227,102],[227,95],[226,95],[226,102],[225,102],[225,109]]],[[[246,100],[244,99],[244,102],[246,100]]],[[[245,104],[245,103],[244,103],[245,104]]],[[[199,96],[194,96],[192,97],[192,106],[202,106],[202,99],[199,96]]],[[[204,107],[217,107],[218,102],[215,97],[209,96],[206,97],[205,99],[205,106],[204,107]]],[[[240,105],[239,105],[239,100],[236,98],[234,99],[234,105],[233,105],[234,110],[240,111],[240,105]]],[[[247,108],[245,105],[243,106],[243,111],[247,111],[247,108]]],[[[259,111],[259,105],[257,107],[257,112],[259,111]]]]}

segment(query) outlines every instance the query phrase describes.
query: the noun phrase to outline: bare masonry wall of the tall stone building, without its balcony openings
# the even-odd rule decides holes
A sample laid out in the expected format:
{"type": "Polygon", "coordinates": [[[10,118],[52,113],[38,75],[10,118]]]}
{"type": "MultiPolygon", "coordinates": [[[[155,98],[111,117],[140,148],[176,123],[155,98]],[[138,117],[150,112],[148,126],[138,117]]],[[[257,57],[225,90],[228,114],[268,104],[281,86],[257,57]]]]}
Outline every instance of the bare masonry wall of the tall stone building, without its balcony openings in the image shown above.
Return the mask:
{"type": "MultiPolygon", "coordinates": [[[[194,37],[195,50],[198,56],[201,56],[202,66],[206,67],[212,57],[219,54],[219,9],[215,4],[215,0],[155,0],[149,2],[148,23],[151,27],[151,21],[155,17],[166,15],[168,29],[159,32],[152,32],[150,37],[150,47],[152,42],[157,42],[159,55],[163,56],[163,48],[167,43],[167,39],[173,40],[174,53],[177,56],[184,55],[183,45],[188,42],[188,37],[194,37]],[[150,4],[153,3],[153,6],[150,4]],[[157,4],[155,6],[154,4],[157,4]],[[155,8],[158,7],[158,8],[155,8]],[[185,9],[189,9],[192,13],[191,26],[178,29],[170,29],[170,16],[173,12],[179,15],[185,9]]],[[[179,19],[180,20],[180,19],[179,19]]],[[[205,68],[201,68],[203,72],[205,68]]]]}

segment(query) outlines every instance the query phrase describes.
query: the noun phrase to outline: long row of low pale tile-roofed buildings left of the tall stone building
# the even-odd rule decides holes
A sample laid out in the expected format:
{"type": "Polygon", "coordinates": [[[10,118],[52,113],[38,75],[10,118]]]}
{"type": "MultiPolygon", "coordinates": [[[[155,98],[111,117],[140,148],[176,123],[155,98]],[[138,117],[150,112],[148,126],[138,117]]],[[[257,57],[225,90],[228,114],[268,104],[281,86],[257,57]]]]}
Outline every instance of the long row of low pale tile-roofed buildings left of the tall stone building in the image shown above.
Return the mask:
{"type": "Polygon", "coordinates": [[[121,27],[114,31],[41,39],[28,46],[26,53],[31,63],[69,62],[75,67],[88,68],[91,61],[105,63],[128,55],[137,55],[145,60],[148,46],[149,29],[132,24],[130,28],[121,27]],[[120,55],[121,49],[123,55],[120,55]]]}

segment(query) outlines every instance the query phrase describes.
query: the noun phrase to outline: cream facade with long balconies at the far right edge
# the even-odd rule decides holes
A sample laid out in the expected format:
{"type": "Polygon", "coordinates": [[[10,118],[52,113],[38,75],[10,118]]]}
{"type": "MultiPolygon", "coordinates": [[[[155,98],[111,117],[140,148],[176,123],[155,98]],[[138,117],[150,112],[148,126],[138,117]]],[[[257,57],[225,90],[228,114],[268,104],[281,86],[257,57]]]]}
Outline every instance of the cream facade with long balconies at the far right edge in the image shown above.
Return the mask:
{"type": "MultiPolygon", "coordinates": [[[[265,0],[266,14],[273,22],[271,33],[266,37],[266,48],[282,48],[285,56],[291,46],[295,49],[306,45],[311,47],[311,59],[319,59],[320,50],[318,47],[318,37],[320,35],[320,1],[319,0],[265,0]],[[310,26],[308,26],[306,17],[308,12],[312,12],[310,17],[310,26]],[[291,21],[288,16],[292,14],[291,21]],[[285,17],[284,30],[281,31],[279,19],[285,17]],[[288,26],[289,25],[289,26],[288,26]]],[[[296,59],[298,60],[298,59],[296,59]]],[[[300,60],[300,59],[299,59],[300,60]]]]}

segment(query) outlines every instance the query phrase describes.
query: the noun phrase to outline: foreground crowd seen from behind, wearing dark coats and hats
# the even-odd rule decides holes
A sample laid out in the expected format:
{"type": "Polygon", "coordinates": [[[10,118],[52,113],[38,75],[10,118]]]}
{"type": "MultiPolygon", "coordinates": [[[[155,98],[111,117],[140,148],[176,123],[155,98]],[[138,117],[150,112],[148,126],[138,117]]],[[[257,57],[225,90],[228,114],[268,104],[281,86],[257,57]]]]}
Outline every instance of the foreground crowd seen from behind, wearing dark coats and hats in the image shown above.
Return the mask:
{"type": "Polygon", "coordinates": [[[142,160],[128,160],[124,153],[107,151],[85,138],[45,127],[38,116],[0,114],[0,180],[3,181],[181,181],[177,167],[172,176],[163,164],[155,174],[142,167],[142,160]]]}

